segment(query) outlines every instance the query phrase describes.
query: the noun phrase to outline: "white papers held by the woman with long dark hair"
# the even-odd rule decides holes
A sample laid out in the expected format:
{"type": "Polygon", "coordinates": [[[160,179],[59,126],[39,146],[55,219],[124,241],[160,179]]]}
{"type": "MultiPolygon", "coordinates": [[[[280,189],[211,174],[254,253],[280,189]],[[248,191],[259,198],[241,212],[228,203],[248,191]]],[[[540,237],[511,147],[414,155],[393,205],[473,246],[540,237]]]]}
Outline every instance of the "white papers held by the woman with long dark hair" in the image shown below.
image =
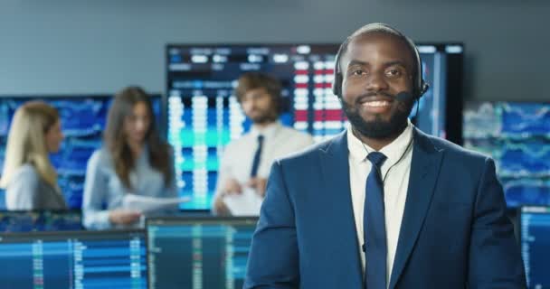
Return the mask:
{"type": "Polygon", "coordinates": [[[147,214],[162,210],[176,210],[180,203],[189,200],[191,200],[189,197],[155,198],[128,193],[122,200],[122,207],[128,210],[138,210],[147,214]]]}

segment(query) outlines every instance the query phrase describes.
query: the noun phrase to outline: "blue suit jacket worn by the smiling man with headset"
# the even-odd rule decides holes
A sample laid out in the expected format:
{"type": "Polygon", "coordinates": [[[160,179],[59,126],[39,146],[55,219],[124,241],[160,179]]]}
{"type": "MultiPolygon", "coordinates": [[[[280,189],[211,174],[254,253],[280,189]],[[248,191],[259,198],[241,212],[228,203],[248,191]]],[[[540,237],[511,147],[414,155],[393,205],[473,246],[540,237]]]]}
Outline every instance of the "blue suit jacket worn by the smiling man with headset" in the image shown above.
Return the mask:
{"type": "MultiPolygon", "coordinates": [[[[413,135],[389,287],[526,287],[493,161],[413,135]]],[[[364,288],[358,246],[343,133],[273,164],[244,288],[364,288]]]]}

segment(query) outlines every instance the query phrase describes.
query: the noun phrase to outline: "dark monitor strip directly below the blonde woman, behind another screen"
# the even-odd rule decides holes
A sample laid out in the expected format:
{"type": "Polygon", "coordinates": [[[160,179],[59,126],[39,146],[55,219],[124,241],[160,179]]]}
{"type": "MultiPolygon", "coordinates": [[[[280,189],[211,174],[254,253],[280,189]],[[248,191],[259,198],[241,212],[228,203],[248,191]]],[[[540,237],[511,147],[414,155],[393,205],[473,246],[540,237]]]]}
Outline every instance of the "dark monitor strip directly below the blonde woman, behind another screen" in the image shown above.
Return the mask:
{"type": "Polygon", "coordinates": [[[82,229],[81,210],[0,210],[0,232],[82,229]]]}

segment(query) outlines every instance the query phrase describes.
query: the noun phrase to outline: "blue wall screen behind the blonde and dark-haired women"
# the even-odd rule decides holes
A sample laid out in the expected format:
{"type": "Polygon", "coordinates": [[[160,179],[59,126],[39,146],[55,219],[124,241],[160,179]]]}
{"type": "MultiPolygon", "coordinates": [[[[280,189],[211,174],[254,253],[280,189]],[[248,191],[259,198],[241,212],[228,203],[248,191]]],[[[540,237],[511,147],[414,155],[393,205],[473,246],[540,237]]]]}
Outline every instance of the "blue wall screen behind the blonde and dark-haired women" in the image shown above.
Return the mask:
{"type": "MultiPolygon", "coordinates": [[[[100,148],[111,95],[68,95],[68,96],[0,96],[0,174],[4,167],[5,144],[14,117],[15,109],[29,100],[43,100],[60,113],[65,139],[61,150],[51,155],[53,166],[58,172],[58,183],[71,209],[80,209],[86,164],[94,150],[100,148]]],[[[157,124],[163,130],[161,96],[152,95],[157,124]]],[[[4,191],[0,200],[4,201],[4,191]]],[[[5,208],[1,206],[0,208],[5,208]]]]}

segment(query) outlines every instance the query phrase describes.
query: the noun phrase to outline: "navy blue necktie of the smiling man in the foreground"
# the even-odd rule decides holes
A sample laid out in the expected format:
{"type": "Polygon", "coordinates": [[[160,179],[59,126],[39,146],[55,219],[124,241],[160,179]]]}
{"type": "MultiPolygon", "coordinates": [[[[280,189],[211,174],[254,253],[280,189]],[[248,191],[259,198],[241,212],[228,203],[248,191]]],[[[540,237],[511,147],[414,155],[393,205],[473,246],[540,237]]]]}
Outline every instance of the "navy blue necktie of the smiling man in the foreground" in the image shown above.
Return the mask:
{"type": "Polygon", "coordinates": [[[384,217],[384,183],[380,168],[386,156],[373,152],[366,156],[373,163],[366,178],[363,237],[365,239],[365,288],[386,288],[386,256],[384,217]]]}

